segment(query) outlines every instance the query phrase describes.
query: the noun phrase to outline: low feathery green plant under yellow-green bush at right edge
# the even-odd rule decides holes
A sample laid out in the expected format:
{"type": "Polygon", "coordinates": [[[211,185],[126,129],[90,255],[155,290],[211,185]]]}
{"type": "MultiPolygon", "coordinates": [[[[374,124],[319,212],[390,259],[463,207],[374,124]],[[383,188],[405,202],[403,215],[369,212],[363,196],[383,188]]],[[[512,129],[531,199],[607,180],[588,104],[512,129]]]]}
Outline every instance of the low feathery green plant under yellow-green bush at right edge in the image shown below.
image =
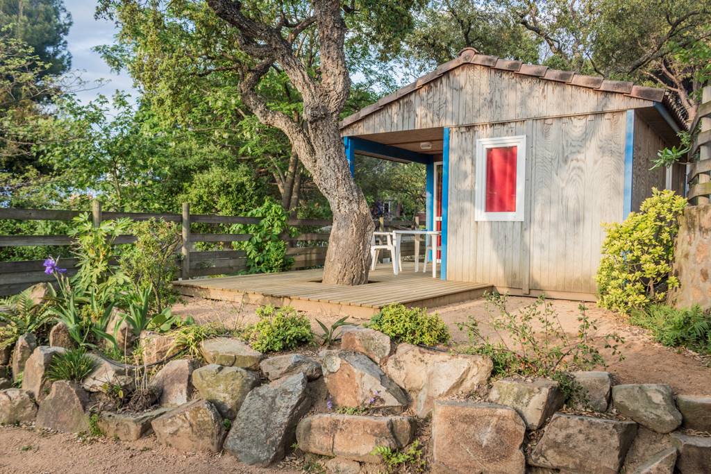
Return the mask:
{"type": "Polygon", "coordinates": [[[711,354],[711,313],[698,305],[675,309],[652,304],[632,311],[629,323],[651,330],[654,339],[663,345],[711,354]]]}

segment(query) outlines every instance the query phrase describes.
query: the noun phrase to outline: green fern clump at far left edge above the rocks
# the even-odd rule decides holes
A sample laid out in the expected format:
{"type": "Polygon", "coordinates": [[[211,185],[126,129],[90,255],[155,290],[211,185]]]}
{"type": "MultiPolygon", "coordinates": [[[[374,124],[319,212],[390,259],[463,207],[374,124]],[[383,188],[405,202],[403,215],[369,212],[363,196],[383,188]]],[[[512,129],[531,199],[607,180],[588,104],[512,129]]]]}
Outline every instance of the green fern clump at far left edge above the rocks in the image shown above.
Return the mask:
{"type": "Polygon", "coordinates": [[[29,297],[30,289],[0,300],[0,349],[14,345],[26,333],[46,333],[50,314],[29,297]]]}

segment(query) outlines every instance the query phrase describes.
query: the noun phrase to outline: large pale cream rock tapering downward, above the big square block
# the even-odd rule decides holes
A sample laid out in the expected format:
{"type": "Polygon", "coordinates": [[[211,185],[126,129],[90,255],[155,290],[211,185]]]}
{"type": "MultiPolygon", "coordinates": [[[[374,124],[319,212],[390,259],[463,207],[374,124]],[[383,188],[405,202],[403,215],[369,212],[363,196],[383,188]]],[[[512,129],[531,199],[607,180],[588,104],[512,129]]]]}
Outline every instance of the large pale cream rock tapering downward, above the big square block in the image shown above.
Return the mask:
{"type": "Polygon", "coordinates": [[[417,416],[432,411],[434,399],[469,394],[491,375],[491,360],[479,355],[447,354],[400,344],[385,365],[387,375],[415,399],[417,416]]]}

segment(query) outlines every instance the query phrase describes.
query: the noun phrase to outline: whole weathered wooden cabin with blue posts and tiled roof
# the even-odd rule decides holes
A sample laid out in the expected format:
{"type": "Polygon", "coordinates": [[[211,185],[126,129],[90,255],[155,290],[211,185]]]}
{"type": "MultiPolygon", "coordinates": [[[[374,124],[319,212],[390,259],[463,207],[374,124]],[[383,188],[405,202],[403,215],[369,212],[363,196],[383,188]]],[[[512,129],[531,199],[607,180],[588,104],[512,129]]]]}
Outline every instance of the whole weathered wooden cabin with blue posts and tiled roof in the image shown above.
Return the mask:
{"type": "Polygon", "coordinates": [[[665,90],[481,55],[473,48],[341,122],[356,155],[427,167],[441,276],[594,299],[604,239],[685,168],[650,171],[684,126],[665,90]]]}

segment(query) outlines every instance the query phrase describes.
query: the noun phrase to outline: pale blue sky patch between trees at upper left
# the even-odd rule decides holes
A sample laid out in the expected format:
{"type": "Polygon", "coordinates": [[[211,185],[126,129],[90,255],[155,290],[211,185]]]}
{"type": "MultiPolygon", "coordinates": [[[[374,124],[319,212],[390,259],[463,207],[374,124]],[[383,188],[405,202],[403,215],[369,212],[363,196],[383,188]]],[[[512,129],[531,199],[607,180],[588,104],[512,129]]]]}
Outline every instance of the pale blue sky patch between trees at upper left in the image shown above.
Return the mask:
{"type": "Polygon", "coordinates": [[[67,36],[68,48],[72,53],[72,68],[80,70],[80,75],[84,80],[105,79],[110,81],[98,89],[78,92],[77,97],[87,103],[100,94],[111,97],[114,91],[119,89],[129,92],[135,99],[138,94],[128,73],[125,71],[120,74],[111,72],[99,53],[92,50],[94,46],[113,43],[114,34],[117,33],[114,24],[106,20],[97,21],[94,19],[96,6],[94,1],[64,0],[64,5],[67,11],[72,14],[74,22],[67,36]]]}

